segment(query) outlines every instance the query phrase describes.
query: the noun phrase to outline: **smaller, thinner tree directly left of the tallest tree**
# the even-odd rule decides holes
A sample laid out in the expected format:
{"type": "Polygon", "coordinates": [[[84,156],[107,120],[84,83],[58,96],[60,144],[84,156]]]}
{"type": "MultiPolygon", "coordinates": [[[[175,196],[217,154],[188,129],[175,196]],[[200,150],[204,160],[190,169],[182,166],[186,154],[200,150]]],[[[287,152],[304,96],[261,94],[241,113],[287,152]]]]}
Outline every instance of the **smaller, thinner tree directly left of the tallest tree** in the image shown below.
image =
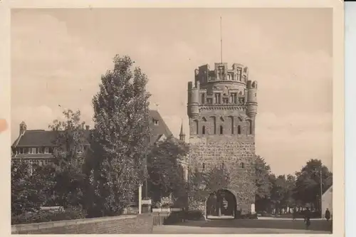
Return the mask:
{"type": "Polygon", "coordinates": [[[58,204],[79,206],[83,204],[83,164],[85,162],[85,144],[87,137],[80,121],[80,111],[63,111],[64,120],[53,120],[49,125],[55,132],[53,140],[56,184],[54,191],[58,204]]]}

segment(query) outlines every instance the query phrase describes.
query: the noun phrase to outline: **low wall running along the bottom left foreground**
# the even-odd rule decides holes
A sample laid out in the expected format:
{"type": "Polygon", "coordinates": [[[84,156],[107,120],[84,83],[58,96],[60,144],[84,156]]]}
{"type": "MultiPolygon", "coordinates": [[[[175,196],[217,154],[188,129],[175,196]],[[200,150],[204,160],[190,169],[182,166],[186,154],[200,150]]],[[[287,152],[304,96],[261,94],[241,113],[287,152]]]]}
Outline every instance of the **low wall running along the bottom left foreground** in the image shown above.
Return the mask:
{"type": "Polygon", "coordinates": [[[151,214],[52,221],[11,226],[12,234],[152,233],[151,214]]]}

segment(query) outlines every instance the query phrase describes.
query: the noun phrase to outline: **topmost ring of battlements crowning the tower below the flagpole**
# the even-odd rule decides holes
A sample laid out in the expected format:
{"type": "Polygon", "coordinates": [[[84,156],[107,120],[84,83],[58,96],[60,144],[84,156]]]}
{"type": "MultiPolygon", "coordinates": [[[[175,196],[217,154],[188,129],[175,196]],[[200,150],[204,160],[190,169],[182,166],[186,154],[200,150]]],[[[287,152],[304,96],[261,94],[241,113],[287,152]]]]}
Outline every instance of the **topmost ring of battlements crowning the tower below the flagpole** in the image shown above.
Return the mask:
{"type": "Polygon", "coordinates": [[[227,63],[215,63],[214,70],[209,65],[201,65],[195,69],[195,81],[201,85],[206,83],[230,82],[246,84],[248,81],[248,68],[240,63],[234,63],[229,68],[227,63]]]}

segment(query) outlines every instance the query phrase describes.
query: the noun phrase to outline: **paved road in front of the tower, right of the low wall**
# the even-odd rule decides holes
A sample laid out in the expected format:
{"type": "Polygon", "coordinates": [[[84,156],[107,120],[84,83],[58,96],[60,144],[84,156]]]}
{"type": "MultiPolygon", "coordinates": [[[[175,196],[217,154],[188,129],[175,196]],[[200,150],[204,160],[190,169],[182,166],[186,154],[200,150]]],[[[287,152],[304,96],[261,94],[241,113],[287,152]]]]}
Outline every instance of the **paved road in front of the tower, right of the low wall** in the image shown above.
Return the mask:
{"type": "Polygon", "coordinates": [[[330,233],[331,222],[314,220],[305,230],[303,220],[211,220],[187,221],[172,226],[155,226],[153,233],[330,233]]]}

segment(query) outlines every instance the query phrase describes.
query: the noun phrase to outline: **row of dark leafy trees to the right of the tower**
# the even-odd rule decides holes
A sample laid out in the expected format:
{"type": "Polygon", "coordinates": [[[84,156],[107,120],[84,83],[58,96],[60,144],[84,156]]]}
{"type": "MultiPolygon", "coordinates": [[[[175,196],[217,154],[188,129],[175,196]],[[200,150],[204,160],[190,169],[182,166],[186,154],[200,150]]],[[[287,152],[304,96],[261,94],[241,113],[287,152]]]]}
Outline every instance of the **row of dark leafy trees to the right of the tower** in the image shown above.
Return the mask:
{"type": "Polygon", "coordinates": [[[271,173],[269,166],[261,157],[256,161],[256,210],[281,211],[287,206],[312,204],[320,209],[320,167],[323,193],[332,185],[333,174],[318,159],[310,159],[295,175],[271,173]]]}

